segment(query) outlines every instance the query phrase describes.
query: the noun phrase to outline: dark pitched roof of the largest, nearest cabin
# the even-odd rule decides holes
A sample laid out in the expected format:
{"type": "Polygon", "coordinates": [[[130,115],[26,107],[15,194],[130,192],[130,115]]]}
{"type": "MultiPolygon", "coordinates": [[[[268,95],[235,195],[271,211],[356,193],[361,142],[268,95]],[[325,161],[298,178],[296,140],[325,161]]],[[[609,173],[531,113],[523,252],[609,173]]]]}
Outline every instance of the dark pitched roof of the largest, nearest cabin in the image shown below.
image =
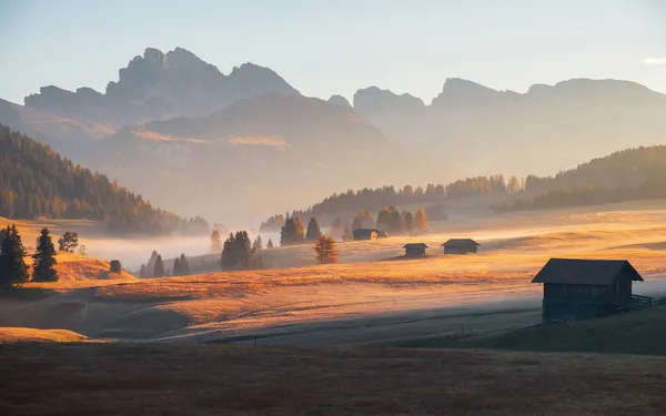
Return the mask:
{"type": "Polygon", "coordinates": [[[626,260],[551,258],[532,283],[608,286],[619,275],[643,282],[640,274],[626,260]]]}

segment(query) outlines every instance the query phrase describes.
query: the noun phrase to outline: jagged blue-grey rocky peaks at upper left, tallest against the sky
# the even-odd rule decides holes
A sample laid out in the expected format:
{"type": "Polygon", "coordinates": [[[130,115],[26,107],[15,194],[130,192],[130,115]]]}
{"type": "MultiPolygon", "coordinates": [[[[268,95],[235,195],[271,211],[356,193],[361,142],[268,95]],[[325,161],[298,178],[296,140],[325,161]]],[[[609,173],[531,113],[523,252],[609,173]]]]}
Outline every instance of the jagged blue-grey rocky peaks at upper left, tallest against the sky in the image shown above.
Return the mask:
{"type": "Polygon", "coordinates": [[[149,48],[119,71],[104,94],[44,87],[27,106],[114,128],[175,116],[200,116],[269,92],[297,93],[270,69],[252,63],[224,75],[182,48],[163,53],[149,48]]]}

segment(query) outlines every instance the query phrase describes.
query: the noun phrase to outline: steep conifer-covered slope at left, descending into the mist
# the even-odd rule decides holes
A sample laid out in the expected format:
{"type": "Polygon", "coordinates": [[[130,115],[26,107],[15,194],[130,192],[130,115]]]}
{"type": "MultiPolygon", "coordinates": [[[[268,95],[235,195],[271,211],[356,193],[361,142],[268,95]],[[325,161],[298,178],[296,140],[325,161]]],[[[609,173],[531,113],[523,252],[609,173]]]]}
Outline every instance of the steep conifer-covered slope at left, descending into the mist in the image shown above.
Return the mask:
{"type": "Polygon", "coordinates": [[[0,216],[103,221],[113,234],[208,232],[205,220],[184,220],[151,206],[102,174],[0,124],[0,216]]]}

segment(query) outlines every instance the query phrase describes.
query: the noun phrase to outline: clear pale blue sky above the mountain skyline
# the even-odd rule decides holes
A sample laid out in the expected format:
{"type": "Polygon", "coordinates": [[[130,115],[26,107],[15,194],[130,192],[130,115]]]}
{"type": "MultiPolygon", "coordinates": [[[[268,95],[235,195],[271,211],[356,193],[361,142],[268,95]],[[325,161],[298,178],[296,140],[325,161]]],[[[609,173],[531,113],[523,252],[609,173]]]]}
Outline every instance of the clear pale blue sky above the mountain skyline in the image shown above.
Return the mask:
{"type": "Polygon", "coordinates": [[[0,0],[0,98],[104,91],[147,47],[229,73],[251,61],[302,93],[369,85],[426,102],[448,77],[495,89],[571,78],[666,92],[662,0],[0,0]]]}

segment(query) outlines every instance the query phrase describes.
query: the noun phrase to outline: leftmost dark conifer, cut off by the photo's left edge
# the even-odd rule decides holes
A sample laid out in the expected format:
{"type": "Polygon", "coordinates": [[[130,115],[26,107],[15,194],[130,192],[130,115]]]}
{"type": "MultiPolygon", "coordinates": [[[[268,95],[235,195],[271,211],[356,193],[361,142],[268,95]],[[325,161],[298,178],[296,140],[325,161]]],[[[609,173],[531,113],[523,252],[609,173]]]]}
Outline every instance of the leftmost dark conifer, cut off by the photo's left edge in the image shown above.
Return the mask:
{"type": "Polygon", "coordinates": [[[0,293],[11,292],[12,288],[28,282],[28,265],[23,258],[26,250],[16,225],[7,226],[1,232],[0,240],[0,293]]]}

